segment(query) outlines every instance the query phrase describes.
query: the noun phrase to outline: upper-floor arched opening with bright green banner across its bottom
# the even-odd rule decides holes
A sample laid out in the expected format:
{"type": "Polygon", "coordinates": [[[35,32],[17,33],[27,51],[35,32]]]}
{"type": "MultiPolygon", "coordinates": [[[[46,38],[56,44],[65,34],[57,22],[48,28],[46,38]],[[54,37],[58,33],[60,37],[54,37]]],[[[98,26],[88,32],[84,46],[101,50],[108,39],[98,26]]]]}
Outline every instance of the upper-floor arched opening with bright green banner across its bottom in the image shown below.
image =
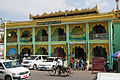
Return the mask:
{"type": "Polygon", "coordinates": [[[70,40],[85,40],[85,32],[80,26],[75,26],[70,32],[70,40]]]}

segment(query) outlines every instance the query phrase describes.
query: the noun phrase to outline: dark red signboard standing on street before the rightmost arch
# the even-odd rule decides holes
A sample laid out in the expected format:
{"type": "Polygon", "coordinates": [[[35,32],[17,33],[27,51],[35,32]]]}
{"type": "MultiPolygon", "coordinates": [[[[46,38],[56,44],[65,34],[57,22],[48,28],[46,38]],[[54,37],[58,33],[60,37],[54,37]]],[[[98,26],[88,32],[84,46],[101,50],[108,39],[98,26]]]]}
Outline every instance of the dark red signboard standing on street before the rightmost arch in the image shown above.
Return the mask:
{"type": "Polygon", "coordinates": [[[92,71],[104,71],[104,57],[92,58],[92,71]]]}

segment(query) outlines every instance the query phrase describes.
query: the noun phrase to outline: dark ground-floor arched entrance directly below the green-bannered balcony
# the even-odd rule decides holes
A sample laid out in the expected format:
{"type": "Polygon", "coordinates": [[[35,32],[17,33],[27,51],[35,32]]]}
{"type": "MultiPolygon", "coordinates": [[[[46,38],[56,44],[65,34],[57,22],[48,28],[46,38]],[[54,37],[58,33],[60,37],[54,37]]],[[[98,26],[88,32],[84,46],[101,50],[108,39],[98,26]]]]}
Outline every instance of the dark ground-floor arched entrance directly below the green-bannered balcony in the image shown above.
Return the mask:
{"type": "Polygon", "coordinates": [[[84,61],[86,61],[86,53],[84,52],[83,48],[79,46],[79,47],[75,47],[73,50],[74,50],[73,54],[75,58],[79,59],[81,57],[84,61]]]}

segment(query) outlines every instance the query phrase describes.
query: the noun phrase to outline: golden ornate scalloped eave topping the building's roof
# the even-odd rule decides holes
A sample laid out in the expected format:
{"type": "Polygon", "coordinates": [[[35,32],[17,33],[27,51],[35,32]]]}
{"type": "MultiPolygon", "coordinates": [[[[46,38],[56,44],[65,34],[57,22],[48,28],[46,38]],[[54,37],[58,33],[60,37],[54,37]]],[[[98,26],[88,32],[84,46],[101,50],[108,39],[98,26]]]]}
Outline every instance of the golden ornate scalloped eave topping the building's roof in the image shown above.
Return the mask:
{"type": "Polygon", "coordinates": [[[84,14],[91,14],[91,13],[99,13],[98,9],[97,9],[97,5],[90,9],[82,9],[82,10],[78,10],[77,8],[73,11],[73,10],[66,10],[65,12],[62,11],[58,11],[58,12],[51,12],[50,14],[47,13],[43,13],[42,15],[37,14],[36,16],[33,16],[32,14],[29,14],[29,18],[30,19],[44,19],[44,18],[53,18],[53,17],[63,17],[63,16],[73,16],[73,15],[84,15],[84,14]]]}

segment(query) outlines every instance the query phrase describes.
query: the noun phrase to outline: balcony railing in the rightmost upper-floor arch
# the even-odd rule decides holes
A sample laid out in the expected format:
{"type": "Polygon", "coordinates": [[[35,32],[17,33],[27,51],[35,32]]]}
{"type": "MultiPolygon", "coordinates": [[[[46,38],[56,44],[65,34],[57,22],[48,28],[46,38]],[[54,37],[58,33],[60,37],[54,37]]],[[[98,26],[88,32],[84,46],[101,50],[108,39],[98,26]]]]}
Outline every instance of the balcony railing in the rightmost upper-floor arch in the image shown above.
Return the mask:
{"type": "Polygon", "coordinates": [[[100,34],[90,34],[89,35],[90,40],[108,40],[109,34],[108,33],[100,33],[100,34]]]}

